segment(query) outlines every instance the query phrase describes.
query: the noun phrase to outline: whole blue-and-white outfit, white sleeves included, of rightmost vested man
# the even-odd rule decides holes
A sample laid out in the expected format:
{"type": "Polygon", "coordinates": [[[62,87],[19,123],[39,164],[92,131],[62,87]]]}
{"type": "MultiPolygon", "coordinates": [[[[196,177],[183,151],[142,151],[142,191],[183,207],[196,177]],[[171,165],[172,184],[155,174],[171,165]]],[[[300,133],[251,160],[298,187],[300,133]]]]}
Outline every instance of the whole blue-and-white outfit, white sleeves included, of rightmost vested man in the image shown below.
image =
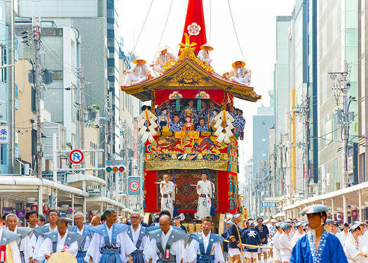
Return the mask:
{"type": "Polygon", "coordinates": [[[224,238],[203,232],[190,234],[190,251],[193,258],[197,259],[197,263],[221,263],[225,262],[222,254],[221,245],[224,238]]]}

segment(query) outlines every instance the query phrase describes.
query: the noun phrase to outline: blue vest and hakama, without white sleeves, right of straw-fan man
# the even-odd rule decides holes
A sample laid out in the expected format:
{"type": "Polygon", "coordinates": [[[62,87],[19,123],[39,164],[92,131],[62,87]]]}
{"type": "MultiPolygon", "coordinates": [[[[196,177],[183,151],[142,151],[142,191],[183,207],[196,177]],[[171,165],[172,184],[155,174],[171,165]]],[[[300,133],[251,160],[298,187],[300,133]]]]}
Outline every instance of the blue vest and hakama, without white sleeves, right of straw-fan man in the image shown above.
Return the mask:
{"type": "Polygon", "coordinates": [[[107,227],[105,224],[90,228],[89,232],[93,237],[94,233],[104,236],[105,246],[101,248],[100,263],[123,263],[120,257],[120,248],[116,248],[116,238],[119,233],[127,231],[129,226],[125,224],[112,224],[111,243],[107,234],[107,227]],[[112,246],[111,246],[112,245],[112,246]]]}

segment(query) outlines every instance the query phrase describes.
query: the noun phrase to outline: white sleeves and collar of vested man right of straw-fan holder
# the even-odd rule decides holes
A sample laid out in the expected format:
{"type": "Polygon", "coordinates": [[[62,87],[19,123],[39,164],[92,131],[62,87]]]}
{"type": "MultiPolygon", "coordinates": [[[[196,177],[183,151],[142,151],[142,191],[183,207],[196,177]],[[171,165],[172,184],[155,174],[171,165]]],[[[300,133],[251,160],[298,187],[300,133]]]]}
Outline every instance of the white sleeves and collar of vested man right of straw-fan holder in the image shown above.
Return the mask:
{"type": "MultiPolygon", "coordinates": [[[[106,225],[106,224],[105,224],[106,225]]],[[[112,226],[110,229],[106,226],[107,234],[110,239],[112,237],[112,226]]],[[[93,263],[99,263],[101,259],[100,248],[105,246],[104,236],[98,233],[94,233],[89,244],[84,261],[89,262],[90,257],[92,257],[93,263]]],[[[126,231],[120,232],[116,237],[116,247],[120,247],[120,256],[123,262],[128,262],[128,255],[135,251],[135,245],[131,241],[126,231]]]]}

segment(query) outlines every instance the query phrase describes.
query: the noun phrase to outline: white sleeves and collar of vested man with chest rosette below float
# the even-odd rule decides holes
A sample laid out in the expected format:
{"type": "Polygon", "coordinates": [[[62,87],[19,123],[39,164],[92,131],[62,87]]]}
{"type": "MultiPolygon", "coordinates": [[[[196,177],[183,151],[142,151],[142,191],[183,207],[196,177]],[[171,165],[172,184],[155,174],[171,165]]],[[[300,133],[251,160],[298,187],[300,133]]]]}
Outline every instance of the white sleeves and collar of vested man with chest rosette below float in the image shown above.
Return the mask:
{"type": "MultiPolygon", "coordinates": [[[[170,226],[169,231],[166,233],[163,233],[161,231],[161,245],[162,245],[162,249],[165,251],[165,247],[166,247],[166,242],[169,239],[171,232],[173,231],[173,228],[170,226]]],[[[174,241],[171,244],[171,248],[170,248],[170,254],[175,255],[176,256],[176,263],[181,263],[181,261],[183,260],[183,263],[186,263],[187,260],[185,260],[185,258],[187,257],[187,255],[185,255],[185,252],[187,250],[185,250],[185,240],[184,239],[180,239],[177,241],[174,241]]],[[[156,239],[152,238],[152,240],[150,241],[150,243],[148,244],[148,247],[146,249],[146,254],[145,254],[145,259],[147,262],[150,261],[150,259],[152,259],[152,263],[156,263],[158,260],[158,248],[157,248],[157,244],[156,244],[156,239]]],[[[190,254],[190,253],[189,253],[190,254]]],[[[192,262],[192,261],[190,261],[192,262]]]]}

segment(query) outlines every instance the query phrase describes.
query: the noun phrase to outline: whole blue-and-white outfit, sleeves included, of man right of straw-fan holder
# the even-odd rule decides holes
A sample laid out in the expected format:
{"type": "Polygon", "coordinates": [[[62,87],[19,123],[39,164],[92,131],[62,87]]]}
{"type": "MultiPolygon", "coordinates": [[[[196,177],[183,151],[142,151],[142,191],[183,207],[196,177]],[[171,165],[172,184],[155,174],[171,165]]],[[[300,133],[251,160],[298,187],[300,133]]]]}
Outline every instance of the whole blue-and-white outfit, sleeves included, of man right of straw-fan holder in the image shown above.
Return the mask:
{"type": "Polygon", "coordinates": [[[92,239],[84,261],[92,258],[93,263],[128,262],[128,255],[136,250],[127,234],[128,229],[129,226],[118,223],[112,224],[110,229],[106,224],[91,228],[92,239]]]}

